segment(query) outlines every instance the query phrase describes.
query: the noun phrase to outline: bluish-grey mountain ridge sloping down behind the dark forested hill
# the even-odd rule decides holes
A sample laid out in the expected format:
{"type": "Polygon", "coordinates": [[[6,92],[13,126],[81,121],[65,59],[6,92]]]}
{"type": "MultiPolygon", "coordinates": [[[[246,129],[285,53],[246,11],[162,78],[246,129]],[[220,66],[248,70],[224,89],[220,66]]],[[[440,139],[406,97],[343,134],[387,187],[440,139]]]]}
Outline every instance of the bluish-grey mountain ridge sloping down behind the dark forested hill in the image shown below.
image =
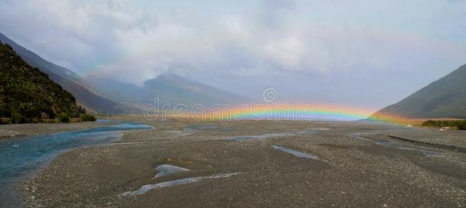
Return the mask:
{"type": "Polygon", "coordinates": [[[110,114],[140,112],[140,110],[135,107],[123,105],[122,103],[113,101],[112,99],[100,94],[97,90],[93,89],[93,87],[86,83],[86,81],[77,73],[44,60],[32,51],[24,49],[24,47],[16,44],[13,40],[10,40],[2,33],[0,33],[0,41],[9,44],[28,64],[47,73],[51,80],[54,80],[64,89],[71,92],[76,97],[77,102],[88,109],[99,113],[110,114]]]}

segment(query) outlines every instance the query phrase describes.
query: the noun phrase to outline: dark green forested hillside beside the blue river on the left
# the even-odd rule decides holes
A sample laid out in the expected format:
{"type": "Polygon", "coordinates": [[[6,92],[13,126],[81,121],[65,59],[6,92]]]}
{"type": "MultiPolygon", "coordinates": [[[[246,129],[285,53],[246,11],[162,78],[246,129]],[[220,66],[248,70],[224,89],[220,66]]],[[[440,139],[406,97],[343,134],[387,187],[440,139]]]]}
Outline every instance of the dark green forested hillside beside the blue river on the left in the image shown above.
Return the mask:
{"type": "Polygon", "coordinates": [[[0,43],[0,118],[40,122],[62,113],[77,117],[79,108],[70,92],[24,62],[11,46],[0,43]]]}

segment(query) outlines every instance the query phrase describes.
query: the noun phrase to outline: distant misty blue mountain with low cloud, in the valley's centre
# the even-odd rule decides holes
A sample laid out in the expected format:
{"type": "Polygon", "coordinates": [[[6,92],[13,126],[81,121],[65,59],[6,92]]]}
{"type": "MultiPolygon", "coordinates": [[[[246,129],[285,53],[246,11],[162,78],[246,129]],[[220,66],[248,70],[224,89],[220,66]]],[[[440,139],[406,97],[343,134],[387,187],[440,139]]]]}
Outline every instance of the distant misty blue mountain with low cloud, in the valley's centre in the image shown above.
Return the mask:
{"type": "Polygon", "coordinates": [[[138,107],[154,103],[154,98],[159,98],[160,107],[165,104],[171,104],[172,107],[177,104],[184,104],[188,107],[202,104],[210,107],[214,104],[236,105],[248,101],[248,98],[243,96],[196,83],[175,74],[162,74],[146,80],[143,86],[119,83],[116,80],[98,76],[88,76],[87,80],[111,98],[138,107]]]}

